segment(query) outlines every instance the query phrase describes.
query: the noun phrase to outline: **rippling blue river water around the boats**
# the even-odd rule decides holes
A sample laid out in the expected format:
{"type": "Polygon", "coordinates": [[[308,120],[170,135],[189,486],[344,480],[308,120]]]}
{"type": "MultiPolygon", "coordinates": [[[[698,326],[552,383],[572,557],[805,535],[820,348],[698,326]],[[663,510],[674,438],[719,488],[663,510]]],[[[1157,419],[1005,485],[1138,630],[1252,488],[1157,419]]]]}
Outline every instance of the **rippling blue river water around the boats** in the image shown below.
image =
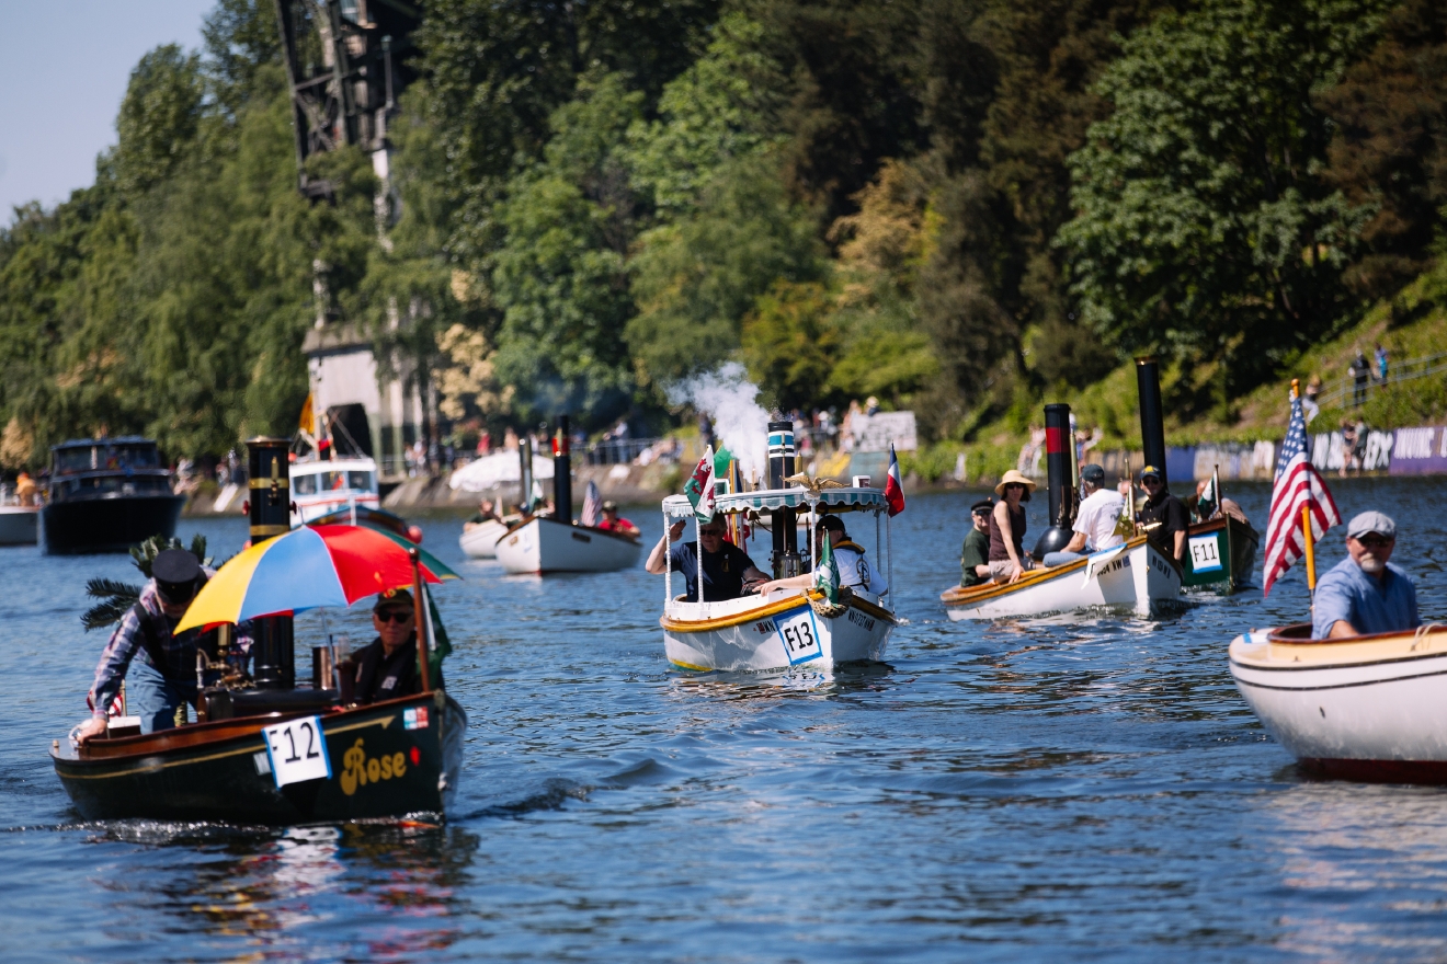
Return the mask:
{"type": "MultiPolygon", "coordinates": [[[[1443,483],[1336,491],[1396,516],[1422,614],[1447,619],[1443,483]]],[[[1266,487],[1229,494],[1265,529],[1266,487]]],[[[424,520],[467,580],[438,594],[472,727],[437,830],[81,822],[46,749],[104,643],[84,580],[135,572],[0,549],[0,957],[1447,957],[1447,792],[1304,779],[1231,684],[1226,643],[1298,620],[1299,575],[1165,621],[952,624],[936,595],[971,500],[910,500],[910,623],[887,666],[832,676],[676,672],[661,577],[505,578],[463,559],[459,520],[424,520]]],[[[245,539],[240,519],[192,530],[220,555],[245,539]]],[[[331,620],[365,642],[362,614],[331,620]]]]}

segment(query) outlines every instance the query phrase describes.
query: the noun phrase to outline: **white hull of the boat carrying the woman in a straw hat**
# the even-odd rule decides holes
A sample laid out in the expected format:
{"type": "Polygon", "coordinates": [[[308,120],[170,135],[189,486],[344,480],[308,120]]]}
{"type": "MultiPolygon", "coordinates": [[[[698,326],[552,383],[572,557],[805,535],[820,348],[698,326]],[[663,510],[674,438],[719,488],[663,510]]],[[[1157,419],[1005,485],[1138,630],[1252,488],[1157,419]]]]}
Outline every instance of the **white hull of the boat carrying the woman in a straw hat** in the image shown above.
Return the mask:
{"type": "MultiPolygon", "coordinates": [[[[1110,551],[1107,551],[1110,552],[1110,551]]],[[[1181,595],[1181,572],[1149,542],[1104,558],[1088,559],[1026,575],[1016,585],[951,591],[942,597],[952,620],[1042,616],[1101,606],[1129,606],[1149,614],[1160,603],[1181,595]]]]}

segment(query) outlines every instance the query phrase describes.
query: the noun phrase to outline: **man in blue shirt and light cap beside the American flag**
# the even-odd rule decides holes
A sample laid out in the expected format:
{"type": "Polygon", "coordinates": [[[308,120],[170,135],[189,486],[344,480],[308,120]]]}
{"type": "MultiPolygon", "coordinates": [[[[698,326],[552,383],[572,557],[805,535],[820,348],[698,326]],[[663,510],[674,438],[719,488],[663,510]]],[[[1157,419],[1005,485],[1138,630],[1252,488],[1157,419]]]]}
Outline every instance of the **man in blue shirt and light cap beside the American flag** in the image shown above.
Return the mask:
{"type": "Polygon", "coordinates": [[[1351,520],[1347,558],[1317,582],[1312,639],[1398,633],[1421,626],[1411,577],[1388,562],[1395,546],[1396,523],[1386,515],[1363,512],[1351,520]]]}

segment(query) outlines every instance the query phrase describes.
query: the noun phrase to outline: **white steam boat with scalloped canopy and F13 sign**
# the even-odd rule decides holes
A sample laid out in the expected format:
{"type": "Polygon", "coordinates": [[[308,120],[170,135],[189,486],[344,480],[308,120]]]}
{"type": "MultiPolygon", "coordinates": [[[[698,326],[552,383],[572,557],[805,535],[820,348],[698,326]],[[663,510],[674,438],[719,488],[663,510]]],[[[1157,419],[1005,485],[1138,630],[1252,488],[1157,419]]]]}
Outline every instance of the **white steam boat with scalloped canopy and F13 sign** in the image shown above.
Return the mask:
{"type": "MultiPolygon", "coordinates": [[[[716,497],[716,515],[809,512],[870,512],[878,519],[888,510],[878,489],[806,489],[741,491],[716,497]]],[[[677,519],[693,517],[684,496],[663,503],[664,532],[677,519]]],[[[812,532],[812,525],[806,532],[812,532]]],[[[805,536],[807,541],[807,535],[805,536]]],[[[807,542],[806,542],[807,545],[807,542]]],[[[875,539],[875,559],[878,559],[875,539]]],[[[764,671],[806,666],[826,671],[836,663],[883,660],[894,613],[878,595],[861,588],[841,590],[831,606],[816,591],[778,590],[768,597],[702,603],[673,597],[673,572],[664,577],[663,647],[680,669],[764,671]]]]}

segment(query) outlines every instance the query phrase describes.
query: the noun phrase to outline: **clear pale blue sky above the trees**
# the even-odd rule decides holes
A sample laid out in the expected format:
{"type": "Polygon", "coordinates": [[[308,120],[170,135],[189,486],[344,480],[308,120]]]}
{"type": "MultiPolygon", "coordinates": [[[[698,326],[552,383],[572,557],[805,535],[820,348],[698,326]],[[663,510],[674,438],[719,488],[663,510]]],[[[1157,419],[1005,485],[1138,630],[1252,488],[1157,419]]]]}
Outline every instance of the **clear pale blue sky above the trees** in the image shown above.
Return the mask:
{"type": "Polygon", "coordinates": [[[0,0],[0,224],[94,184],[130,69],[161,43],[201,45],[214,0],[0,0]]]}

